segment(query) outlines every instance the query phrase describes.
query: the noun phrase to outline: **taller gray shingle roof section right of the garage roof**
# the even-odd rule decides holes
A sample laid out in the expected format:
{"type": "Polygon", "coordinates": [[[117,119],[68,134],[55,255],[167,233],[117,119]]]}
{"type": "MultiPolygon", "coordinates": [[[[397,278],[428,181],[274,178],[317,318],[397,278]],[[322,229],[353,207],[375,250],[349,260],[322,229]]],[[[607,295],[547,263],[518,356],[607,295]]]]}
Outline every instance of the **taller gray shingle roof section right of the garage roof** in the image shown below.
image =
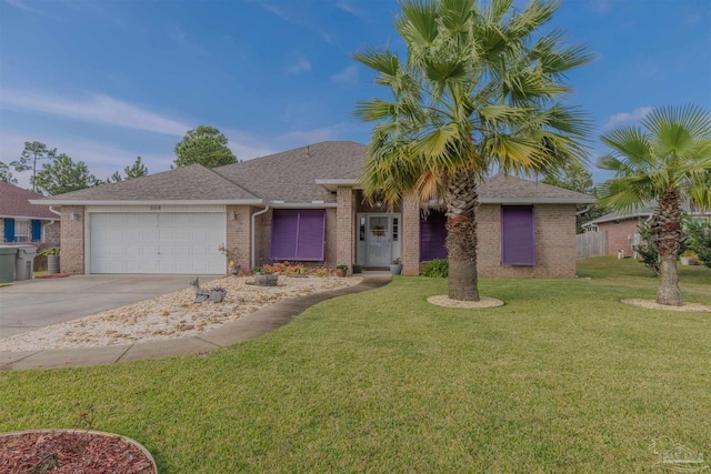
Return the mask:
{"type": "Polygon", "coordinates": [[[304,203],[336,202],[318,179],[359,179],[367,147],[349,141],[329,141],[256,158],[214,171],[266,200],[304,203]]]}

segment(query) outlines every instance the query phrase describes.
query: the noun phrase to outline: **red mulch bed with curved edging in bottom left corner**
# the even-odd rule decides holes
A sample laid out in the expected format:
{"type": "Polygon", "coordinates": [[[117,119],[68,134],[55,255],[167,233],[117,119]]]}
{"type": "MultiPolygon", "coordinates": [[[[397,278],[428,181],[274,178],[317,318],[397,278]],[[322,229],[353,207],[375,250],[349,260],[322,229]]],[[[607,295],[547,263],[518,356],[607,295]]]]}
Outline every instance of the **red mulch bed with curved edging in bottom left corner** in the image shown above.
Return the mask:
{"type": "Polygon", "coordinates": [[[0,473],[156,474],[136,445],[117,435],[83,431],[0,435],[0,473]]]}

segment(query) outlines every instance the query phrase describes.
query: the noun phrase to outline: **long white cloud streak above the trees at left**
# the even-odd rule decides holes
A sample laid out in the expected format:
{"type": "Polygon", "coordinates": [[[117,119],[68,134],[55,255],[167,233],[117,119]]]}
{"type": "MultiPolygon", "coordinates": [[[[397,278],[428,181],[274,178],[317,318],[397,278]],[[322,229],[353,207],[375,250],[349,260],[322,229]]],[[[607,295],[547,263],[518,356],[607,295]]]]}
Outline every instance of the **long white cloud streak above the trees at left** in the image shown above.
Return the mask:
{"type": "Polygon", "coordinates": [[[34,92],[4,90],[0,95],[0,109],[30,110],[174,137],[183,137],[192,128],[188,123],[178,122],[104,94],[72,100],[34,92]]]}

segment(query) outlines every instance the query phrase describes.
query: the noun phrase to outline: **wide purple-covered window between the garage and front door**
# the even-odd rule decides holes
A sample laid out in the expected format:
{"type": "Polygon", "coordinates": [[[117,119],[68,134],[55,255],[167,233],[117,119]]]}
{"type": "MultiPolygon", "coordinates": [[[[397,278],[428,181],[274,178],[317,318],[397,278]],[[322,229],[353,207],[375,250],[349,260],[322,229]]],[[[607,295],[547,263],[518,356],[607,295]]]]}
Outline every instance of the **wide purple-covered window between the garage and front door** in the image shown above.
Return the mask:
{"type": "Polygon", "coordinates": [[[274,209],[269,259],[322,261],[324,232],[323,209],[274,209]]]}

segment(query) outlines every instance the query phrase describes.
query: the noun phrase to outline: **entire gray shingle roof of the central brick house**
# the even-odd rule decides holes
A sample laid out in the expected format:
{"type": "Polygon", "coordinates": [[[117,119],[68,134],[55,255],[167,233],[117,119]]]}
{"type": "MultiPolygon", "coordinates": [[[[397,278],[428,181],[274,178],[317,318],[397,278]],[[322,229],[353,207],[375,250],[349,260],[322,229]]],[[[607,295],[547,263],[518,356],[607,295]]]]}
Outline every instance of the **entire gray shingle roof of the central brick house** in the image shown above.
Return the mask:
{"type": "MultiPolygon", "coordinates": [[[[209,170],[199,164],[76,191],[48,201],[283,201],[334,203],[318,180],[356,182],[368,148],[328,141],[209,170]]],[[[495,175],[479,189],[482,203],[592,203],[592,196],[518,178],[495,175]]]]}

